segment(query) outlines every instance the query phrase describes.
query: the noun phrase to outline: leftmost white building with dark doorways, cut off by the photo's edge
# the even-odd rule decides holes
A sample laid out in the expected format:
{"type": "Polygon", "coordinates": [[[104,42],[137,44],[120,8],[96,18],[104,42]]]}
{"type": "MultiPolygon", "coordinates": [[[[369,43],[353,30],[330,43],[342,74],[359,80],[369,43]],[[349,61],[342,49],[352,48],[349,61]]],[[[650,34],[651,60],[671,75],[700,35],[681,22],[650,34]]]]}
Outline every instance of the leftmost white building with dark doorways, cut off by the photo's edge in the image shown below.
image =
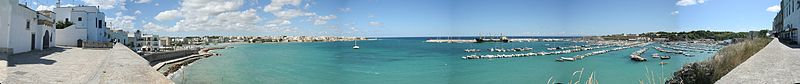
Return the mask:
{"type": "Polygon", "coordinates": [[[17,54],[53,47],[52,12],[34,11],[18,0],[0,1],[0,53],[17,54]]]}

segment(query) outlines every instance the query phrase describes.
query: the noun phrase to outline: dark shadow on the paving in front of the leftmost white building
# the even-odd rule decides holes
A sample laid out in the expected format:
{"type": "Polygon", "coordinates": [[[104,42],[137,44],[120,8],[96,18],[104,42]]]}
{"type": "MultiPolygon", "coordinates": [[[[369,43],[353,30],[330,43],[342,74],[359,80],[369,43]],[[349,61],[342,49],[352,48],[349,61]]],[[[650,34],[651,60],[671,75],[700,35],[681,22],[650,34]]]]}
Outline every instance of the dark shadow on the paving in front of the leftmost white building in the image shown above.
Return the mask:
{"type": "Polygon", "coordinates": [[[42,58],[56,52],[64,52],[66,49],[71,49],[71,48],[52,47],[44,50],[37,50],[37,51],[11,55],[8,57],[8,67],[15,67],[16,65],[21,65],[21,64],[52,65],[53,63],[56,62],[55,60],[42,59],[42,58]]]}

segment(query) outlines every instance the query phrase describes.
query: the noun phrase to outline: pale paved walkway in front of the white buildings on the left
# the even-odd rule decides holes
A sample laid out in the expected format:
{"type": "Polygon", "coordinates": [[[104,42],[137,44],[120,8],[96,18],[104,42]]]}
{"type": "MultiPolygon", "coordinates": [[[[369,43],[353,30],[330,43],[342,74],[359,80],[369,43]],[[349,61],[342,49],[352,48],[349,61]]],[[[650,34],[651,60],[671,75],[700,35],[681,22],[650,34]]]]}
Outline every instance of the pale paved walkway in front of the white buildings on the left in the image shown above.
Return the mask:
{"type": "Polygon", "coordinates": [[[170,84],[127,47],[57,47],[9,57],[8,84],[170,84]]]}

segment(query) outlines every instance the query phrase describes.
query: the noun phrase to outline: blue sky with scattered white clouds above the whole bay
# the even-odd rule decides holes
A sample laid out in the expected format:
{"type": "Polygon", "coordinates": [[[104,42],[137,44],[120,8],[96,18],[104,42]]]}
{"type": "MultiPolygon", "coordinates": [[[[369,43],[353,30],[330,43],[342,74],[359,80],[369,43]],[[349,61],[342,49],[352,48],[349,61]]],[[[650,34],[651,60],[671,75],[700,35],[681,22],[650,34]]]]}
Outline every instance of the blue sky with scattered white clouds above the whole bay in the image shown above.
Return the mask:
{"type": "MultiPolygon", "coordinates": [[[[20,0],[51,10],[57,0],[20,0]]],[[[62,0],[166,36],[588,36],[771,28],[780,0],[62,0]]]]}

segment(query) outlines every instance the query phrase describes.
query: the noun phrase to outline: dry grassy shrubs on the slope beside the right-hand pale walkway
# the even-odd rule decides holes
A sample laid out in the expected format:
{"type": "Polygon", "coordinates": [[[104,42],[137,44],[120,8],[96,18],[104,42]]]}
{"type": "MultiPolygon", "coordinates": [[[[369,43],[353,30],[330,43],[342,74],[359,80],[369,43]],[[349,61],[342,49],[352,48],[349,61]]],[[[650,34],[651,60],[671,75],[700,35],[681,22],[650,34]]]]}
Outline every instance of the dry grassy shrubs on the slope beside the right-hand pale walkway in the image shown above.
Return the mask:
{"type": "Polygon", "coordinates": [[[770,41],[772,41],[770,38],[756,38],[722,48],[714,55],[714,58],[708,60],[712,69],[714,69],[712,74],[713,81],[719,80],[733,68],[747,61],[748,58],[766,47],[770,41]]]}

